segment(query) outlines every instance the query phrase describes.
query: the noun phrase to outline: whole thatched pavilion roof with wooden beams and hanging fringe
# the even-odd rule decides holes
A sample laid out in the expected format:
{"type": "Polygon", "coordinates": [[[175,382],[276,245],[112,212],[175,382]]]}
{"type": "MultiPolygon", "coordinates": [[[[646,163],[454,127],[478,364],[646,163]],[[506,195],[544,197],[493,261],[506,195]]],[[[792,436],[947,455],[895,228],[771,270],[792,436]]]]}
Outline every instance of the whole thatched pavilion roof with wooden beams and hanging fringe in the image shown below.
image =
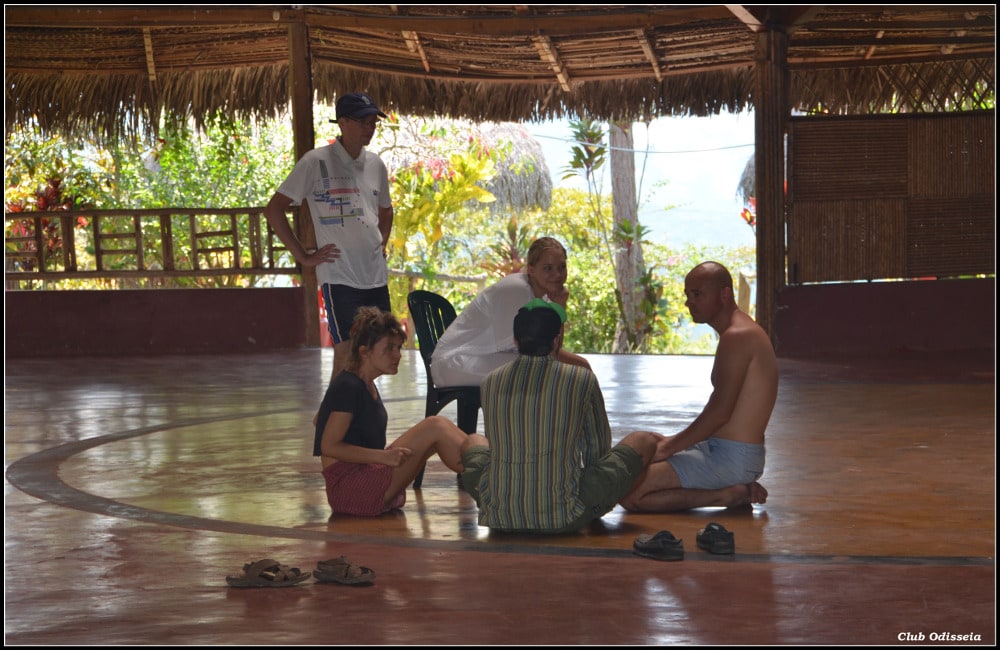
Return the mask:
{"type": "Polygon", "coordinates": [[[4,11],[7,127],[35,117],[109,137],[164,110],[280,114],[293,64],[307,60],[317,99],[364,89],[409,114],[523,122],[738,112],[754,107],[755,57],[769,30],[788,35],[789,108],[944,110],[995,91],[995,5],[4,11]]]}

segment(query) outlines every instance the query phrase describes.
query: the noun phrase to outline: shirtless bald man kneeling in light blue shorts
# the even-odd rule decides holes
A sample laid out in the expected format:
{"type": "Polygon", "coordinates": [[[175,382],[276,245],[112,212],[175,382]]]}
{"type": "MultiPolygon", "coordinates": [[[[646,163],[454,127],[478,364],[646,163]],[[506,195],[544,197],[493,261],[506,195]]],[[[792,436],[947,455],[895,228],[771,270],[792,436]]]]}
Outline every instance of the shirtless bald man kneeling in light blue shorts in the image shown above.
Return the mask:
{"type": "Polygon", "coordinates": [[[621,505],[630,512],[670,512],[764,503],[764,431],[778,397],[778,362],[767,333],[736,306],[733,278],[718,262],[684,279],[696,323],[719,333],[712,395],[683,431],[664,438],[653,462],[621,505]]]}

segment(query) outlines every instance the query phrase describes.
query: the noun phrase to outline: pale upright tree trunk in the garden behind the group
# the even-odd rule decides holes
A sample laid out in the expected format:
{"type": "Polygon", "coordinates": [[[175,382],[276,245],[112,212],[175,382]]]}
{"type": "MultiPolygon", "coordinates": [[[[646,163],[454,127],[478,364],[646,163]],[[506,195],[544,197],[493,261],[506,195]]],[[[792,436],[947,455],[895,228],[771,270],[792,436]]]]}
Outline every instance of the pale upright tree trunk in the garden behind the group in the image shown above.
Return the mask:
{"type": "Polygon", "coordinates": [[[641,348],[646,336],[642,310],[644,291],[639,282],[646,264],[639,236],[632,123],[612,123],[610,142],[615,283],[619,307],[618,328],[612,351],[615,354],[629,354],[641,348]]]}

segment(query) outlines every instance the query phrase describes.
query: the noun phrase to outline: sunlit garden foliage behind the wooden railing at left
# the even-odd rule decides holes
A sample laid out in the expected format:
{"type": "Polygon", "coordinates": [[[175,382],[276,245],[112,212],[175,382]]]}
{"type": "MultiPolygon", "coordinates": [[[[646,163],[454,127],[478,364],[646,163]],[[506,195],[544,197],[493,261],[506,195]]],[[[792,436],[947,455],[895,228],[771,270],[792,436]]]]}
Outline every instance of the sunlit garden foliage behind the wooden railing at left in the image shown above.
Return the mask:
{"type": "MultiPolygon", "coordinates": [[[[286,144],[288,129],[280,120],[257,125],[212,116],[203,131],[179,119],[165,119],[161,137],[152,146],[140,141],[121,143],[111,150],[93,141],[45,135],[37,125],[27,125],[7,134],[4,171],[7,187],[5,210],[43,209],[36,197],[45,196],[44,186],[58,188],[72,209],[164,208],[197,204],[199,207],[238,208],[260,206],[278,186],[294,162],[286,144]]],[[[51,190],[49,190],[51,191],[51,190]]],[[[48,205],[48,203],[46,203],[48,205]]],[[[67,208],[69,209],[69,208],[67,208]]],[[[116,221],[100,222],[102,234],[111,234],[116,221]]],[[[175,250],[185,262],[190,249],[190,229],[174,224],[175,250]]],[[[93,266],[93,230],[76,224],[79,262],[93,266]]],[[[225,217],[204,217],[202,231],[229,227],[225,217]]],[[[244,230],[245,222],[239,223],[244,230]]],[[[5,230],[12,226],[7,224],[5,230]]],[[[143,233],[143,257],[150,266],[162,264],[160,234],[143,233]]],[[[135,256],[104,260],[105,268],[134,269],[135,256]]],[[[63,280],[49,288],[115,288],[126,281],[63,280]]],[[[241,286],[271,282],[268,277],[211,276],[159,280],[157,286],[241,286]]],[[[127,286],[149,286],[145,280],[129,279],[127,286]]]]}

